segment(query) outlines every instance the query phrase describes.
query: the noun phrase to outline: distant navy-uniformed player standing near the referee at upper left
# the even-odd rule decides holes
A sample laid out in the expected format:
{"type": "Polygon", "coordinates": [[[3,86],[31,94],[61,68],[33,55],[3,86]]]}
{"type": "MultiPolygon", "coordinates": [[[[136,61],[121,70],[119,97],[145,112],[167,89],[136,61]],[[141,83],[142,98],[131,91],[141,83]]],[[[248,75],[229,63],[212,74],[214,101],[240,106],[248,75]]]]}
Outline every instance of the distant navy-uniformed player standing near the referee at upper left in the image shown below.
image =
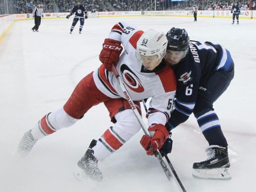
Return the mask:
{"type": "Polygon", "coordinates": [[[71,13],[67,15],[66,18],[69,19],[69,17],[73,14],[75,15],[74,15],[73,23],[70,28],[70,34],[72,34],[73,29],[79,20],[80,20],[79,34],[81,34],[83,26],[85,24],[85,19],[88,19],[88,15],[87,15],[87,11],[85,10],[85,7],[81,5],[80,1],[76,2],[76,6],[74,6],[71,13]]]}

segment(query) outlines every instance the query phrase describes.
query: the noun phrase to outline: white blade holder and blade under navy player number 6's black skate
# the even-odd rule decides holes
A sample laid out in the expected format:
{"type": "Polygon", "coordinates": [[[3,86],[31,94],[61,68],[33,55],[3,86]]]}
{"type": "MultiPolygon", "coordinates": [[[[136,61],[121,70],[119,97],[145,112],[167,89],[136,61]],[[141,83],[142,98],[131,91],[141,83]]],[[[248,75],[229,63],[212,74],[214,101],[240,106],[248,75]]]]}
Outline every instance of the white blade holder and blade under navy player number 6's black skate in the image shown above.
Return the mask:
{"type": "Polygon", "coordinates": [[[196,179],[231,180],[229,168],[194,169],[192,175],[196,179]]]}

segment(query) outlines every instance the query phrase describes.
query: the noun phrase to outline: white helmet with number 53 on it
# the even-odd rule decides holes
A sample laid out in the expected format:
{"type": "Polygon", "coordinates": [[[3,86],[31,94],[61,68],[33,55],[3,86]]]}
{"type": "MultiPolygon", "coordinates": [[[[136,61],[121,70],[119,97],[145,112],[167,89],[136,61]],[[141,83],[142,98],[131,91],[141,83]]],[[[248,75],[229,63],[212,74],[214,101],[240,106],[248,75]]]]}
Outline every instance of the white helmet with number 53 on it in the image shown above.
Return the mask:
{"type": "Polygon", "coordinates": [[[158,59],[161,61],[165,56],[167,44],[168,41],[163,32],[149,29],[137,41],[136,49],[142,56],[158,55],[158,59]]]}

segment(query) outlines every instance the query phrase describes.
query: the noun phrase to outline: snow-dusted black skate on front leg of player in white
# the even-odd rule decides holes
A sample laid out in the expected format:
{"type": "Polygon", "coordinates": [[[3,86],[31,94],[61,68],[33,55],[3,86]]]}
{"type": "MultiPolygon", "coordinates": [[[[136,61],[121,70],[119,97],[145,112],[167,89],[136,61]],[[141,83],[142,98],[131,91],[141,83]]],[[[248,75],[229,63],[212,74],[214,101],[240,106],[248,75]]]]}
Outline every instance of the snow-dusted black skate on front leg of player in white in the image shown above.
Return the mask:
{"type": "MultiPolygon", "coordinates": [[[[94,151],[91,149],[97,143],[96,140],[93,140],[87,149],[85,155],[78,161],[77,165],[79,168],[83,170],[86,177],[89,177],[92,180],[100,182],[103,177],[102,173],[98,168],[98,159],[93,156],[94,151]]],[[[83,173],[77,173],[77,177],[81,180],[85,180],[83,177],[83,173]]]]}

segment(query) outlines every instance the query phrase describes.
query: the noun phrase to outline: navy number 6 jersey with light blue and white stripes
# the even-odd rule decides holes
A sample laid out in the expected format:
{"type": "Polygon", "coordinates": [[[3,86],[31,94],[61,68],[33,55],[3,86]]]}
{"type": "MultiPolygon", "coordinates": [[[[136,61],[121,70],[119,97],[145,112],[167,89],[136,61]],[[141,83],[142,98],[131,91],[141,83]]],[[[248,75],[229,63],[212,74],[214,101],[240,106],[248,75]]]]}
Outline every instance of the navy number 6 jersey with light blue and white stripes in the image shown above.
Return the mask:
{"type": "Polygon", "coordinates": [[[173,67],[177,91],[174,110],[167,127],[175,128],[188,119],[195,108],[198,89],[216,71],[228,71],[232,65],[230,52],[219,44],[190,41],[188,54],[173,67]]]}

